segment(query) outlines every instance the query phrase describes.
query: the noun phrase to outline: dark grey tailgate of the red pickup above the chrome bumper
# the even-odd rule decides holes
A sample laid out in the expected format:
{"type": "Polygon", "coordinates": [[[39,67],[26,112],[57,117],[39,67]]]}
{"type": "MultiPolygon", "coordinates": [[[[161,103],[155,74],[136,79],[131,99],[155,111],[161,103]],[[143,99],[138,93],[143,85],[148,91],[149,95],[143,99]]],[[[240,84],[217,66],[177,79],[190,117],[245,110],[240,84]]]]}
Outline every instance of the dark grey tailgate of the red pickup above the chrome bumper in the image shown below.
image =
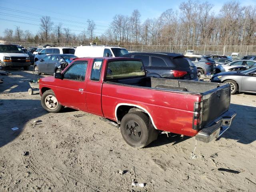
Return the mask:
{"type": "Polygon", "coordinates": [[[206,126],[224,112],[230,105],[230,85],[204,92],[202,103],[202,127],[206,126]]]}

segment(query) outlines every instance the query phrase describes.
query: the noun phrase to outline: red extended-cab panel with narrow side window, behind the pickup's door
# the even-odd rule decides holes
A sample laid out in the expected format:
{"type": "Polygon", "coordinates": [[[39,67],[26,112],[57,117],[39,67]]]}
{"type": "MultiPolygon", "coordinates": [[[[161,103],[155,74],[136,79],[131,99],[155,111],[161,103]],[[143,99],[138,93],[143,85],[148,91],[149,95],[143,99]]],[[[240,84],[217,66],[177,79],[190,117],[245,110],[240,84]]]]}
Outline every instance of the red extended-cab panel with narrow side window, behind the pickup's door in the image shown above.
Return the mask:
{"type": "MultiPolygon", "coordinates": [[[[94,59],[92,63],[92,70],[89,72],[90,80],[88,80],[86,85],[86,106],[90,113],[102,116],[101,107],[101,90],[102,81],[101,71],[102,71],[103,59],[94,59]]],[[[111,71],[107,71],[111,73],[111,71]]]]}

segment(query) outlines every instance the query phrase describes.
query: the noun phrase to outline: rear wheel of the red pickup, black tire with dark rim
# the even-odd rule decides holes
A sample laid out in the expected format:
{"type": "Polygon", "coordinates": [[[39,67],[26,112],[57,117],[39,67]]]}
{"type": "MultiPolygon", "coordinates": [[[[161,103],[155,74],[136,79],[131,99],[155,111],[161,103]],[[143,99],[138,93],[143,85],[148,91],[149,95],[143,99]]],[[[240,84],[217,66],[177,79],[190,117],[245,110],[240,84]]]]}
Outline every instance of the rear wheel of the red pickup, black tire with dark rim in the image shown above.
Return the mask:
{"type": "Polygon", "coordinates": [[[135,148],[149,144],[149,118],[143,112],[127,113],[121,120],[121,134],[125,142],[135,148]]]}

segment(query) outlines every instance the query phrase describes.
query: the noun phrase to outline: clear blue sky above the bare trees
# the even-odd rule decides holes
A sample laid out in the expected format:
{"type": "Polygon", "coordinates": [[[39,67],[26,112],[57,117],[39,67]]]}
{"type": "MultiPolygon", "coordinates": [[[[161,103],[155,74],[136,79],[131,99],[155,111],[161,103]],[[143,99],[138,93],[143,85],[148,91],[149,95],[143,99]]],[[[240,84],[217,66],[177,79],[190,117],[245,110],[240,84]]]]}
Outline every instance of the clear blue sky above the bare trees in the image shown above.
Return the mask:
{"type": "MultiPolygon", "coordinates": [[[[88,19],[94,20],[95,34],[100,36],[116,14],[130,16],[134,9],[138,9],[143,22],[147,18],[159,17],[167,9],[178,10],[183,1],[186,0],[0,0],[0,36],[4,36],[4,29],[14,30],[16,26],[36,34],[40,31],[41,16],[50,16],[54,24],[62,23],[76,34],[87,28],[88,19]]],[[[212,11],[218,14],[228,0],[208,2],[214,5],[212,11]]],[[[256,6],[256,0],[239,2],[242,6],[256,6]]]]}

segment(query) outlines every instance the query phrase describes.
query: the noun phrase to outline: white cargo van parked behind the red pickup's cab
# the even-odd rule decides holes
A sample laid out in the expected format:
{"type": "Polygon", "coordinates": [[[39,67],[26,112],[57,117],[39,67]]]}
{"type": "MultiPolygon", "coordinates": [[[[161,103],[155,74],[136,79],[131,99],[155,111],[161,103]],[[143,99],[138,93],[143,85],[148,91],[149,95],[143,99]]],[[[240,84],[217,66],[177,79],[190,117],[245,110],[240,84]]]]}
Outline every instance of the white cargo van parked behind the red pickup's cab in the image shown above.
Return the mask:
{"type": "Polygon", "coordinates": [[[77,57],[120,57],[128,54],[125,48],[111,46],[78,46],[75,51],[77,57]]]}

